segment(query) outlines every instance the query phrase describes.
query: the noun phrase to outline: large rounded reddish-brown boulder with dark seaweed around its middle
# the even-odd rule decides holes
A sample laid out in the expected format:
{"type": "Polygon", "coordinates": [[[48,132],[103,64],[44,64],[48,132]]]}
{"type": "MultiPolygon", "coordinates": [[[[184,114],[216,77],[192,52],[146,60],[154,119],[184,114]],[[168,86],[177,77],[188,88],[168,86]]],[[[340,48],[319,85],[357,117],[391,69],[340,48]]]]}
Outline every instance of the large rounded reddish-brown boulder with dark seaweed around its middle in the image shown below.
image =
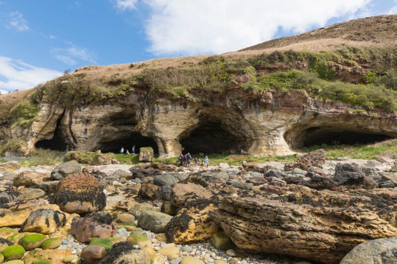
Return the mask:
{"type": "Polygon", "coordinates": [[[101,211],[106,206],[102,184],[87,172],[70,174],[62,179],[54,194],[54,203],[68,213],[101,211]]]}

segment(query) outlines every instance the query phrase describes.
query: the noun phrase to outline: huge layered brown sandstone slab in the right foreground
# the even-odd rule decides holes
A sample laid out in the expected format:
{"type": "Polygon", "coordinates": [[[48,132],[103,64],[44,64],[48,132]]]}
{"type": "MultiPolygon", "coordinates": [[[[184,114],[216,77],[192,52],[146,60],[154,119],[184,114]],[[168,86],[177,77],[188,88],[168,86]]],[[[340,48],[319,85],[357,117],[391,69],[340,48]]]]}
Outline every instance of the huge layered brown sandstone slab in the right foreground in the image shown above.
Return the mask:
{"type": "Polygon", "coordinates": [[[393,205],[355,194],[345,194],[338,203],[331,196],[303,191],[290,201],[227,197],[210,215],[239,248],[327,264],[339,263],[362,242],[397,236],[386,220],[395,216],[393,205]]]}

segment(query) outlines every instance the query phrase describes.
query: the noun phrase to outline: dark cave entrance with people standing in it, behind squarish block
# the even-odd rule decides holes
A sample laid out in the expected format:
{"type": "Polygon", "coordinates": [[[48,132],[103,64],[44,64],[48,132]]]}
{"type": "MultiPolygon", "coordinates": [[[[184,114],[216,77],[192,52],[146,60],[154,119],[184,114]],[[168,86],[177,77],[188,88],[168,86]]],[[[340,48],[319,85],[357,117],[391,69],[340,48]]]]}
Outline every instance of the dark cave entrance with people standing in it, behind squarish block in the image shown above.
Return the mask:
{"type": "Polygon", "coordinates": [[[142,136],[138,132],[124,132],[118,134],[115,139],[101,142],[99,149],[103,153],[112,152],[119,153],[123,147],[124,151],[127,150],[132,153],[132,146],[135,145],[135,153],[139,153],[139,148],[151,147],[155,155],[158,155],[158,147],[154,139],[142,136]]]}

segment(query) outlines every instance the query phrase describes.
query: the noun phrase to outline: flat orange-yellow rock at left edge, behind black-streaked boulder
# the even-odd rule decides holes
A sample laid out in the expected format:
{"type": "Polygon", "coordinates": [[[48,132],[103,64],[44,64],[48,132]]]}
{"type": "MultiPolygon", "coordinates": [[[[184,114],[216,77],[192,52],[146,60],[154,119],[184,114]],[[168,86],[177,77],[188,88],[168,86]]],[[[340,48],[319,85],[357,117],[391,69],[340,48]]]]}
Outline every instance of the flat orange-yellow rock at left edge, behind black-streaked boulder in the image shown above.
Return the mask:
{"type": "Polygon", "coordinates": [[[0,227],[19,227],[32,210],[39,209],[60,211],[59,206],[48,204],[42,200],[5,204],[0,207],[0,227]]]}

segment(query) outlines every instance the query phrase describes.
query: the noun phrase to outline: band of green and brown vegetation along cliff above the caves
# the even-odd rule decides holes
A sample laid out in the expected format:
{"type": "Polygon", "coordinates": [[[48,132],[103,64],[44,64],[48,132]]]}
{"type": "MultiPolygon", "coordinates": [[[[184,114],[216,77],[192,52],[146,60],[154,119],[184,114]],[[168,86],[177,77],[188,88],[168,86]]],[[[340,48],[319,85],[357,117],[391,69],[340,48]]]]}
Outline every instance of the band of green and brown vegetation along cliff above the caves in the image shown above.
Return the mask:
{"type": "MultiPolygon", "coordinates": [[[[133,65],[133,64],[132,64],[133,65]]],[[[40,86],[33,98],[71,108],[126,96],[136,89],[152,99],[207,101],[227,88],[241,86],[253,93],[270,89],[304,92],[312,97],[397,111],[397,47],[340,47],[333,51],[277,51],[246,57],[215,55],[199,63],[145,68],[127,78],[67,74],[40,86]],[[261,73],[263,70],[268,73],[261,73]],[[355,79],[346,75],[352,74],[355,79]],[[239,83],[238,76],[246,76],[239,83]],[[356,83],[354,83],[356,82],[356,83]],[[146,93],[145,92],[145,93],[146,93]]],[[[26,119],[30,120],[30,119],[26,119]]]]}

